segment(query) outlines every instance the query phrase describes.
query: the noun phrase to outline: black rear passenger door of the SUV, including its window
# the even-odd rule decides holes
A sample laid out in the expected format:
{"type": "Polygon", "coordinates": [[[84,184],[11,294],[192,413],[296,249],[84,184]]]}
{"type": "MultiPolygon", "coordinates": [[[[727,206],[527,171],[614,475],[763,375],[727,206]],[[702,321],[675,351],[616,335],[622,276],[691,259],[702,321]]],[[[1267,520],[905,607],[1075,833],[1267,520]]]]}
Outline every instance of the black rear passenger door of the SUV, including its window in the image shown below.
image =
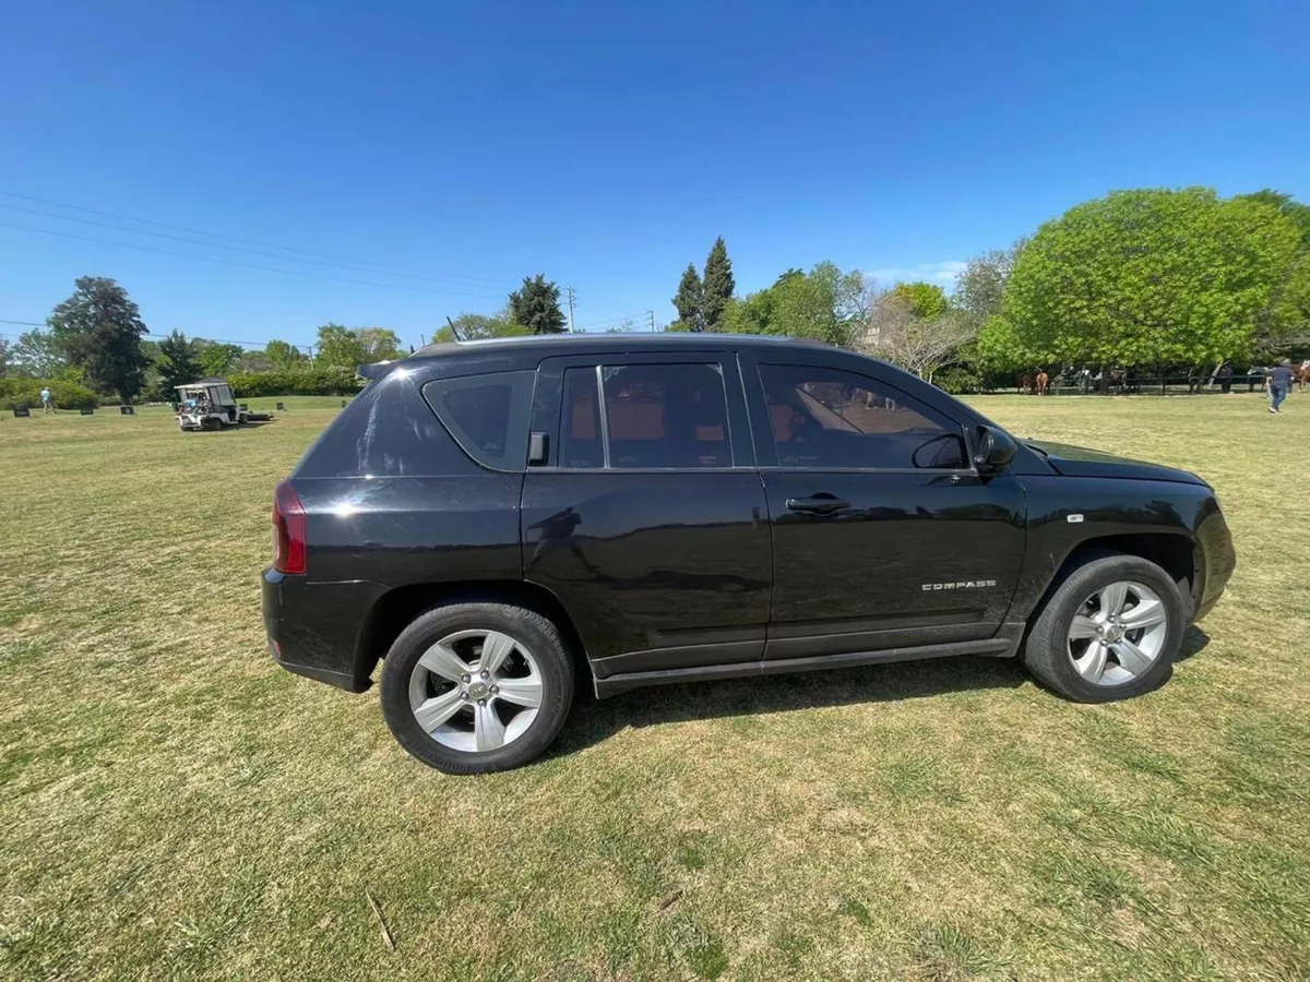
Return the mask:
{"type": "Polygon", "coordinates": [[[549,359],[533,431],[524,575],[563,602],[596,674],[758,660],[770,537],[736,359],[549,359]]]}

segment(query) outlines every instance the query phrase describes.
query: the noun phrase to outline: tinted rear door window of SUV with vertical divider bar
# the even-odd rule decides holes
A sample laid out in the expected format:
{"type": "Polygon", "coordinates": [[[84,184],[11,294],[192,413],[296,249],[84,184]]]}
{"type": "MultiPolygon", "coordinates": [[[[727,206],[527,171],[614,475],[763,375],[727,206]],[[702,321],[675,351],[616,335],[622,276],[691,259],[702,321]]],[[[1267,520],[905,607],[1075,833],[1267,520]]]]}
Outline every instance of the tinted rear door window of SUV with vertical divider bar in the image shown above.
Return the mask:
{"type": "Polygon", "coordinates": [[[722,369],[646,363],[603,365],[599,372],[570,368],[559,466],[731,467],[722,369]]]}

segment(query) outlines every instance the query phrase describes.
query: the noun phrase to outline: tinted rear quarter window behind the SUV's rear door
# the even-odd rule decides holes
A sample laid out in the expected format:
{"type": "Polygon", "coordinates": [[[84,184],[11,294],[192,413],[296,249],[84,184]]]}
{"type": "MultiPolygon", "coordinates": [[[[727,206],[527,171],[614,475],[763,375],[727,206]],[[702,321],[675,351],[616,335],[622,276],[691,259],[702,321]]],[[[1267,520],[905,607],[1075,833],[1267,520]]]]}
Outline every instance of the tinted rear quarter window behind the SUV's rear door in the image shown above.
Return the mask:
{"type": "Polygon", "coordinates": [[[494,470],[523,470],[536,377],[536,372],[527,371],[439,378],[423,386],[423,398],[478,464],[494,470]]]}

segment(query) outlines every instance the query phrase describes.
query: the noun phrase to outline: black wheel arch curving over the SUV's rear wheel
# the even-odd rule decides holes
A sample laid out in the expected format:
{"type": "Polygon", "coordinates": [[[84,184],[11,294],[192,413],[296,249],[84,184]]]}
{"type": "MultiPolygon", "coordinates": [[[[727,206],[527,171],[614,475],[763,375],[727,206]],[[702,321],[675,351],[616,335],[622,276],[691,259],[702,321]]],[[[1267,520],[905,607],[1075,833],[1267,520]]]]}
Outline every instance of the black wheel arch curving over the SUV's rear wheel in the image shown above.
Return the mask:
{"type": "Polygon", "coordinates": [[[574,669],[591,674],[591,661],[578,628],[559,598],[529,580],[461,580],[411,583],[380,596],[368,610],[355,649],[355,678],[367,685],[388,649],[419,614],[448,604],[511,604],[541,614],[558,630],[574,657],[574,669]]]}

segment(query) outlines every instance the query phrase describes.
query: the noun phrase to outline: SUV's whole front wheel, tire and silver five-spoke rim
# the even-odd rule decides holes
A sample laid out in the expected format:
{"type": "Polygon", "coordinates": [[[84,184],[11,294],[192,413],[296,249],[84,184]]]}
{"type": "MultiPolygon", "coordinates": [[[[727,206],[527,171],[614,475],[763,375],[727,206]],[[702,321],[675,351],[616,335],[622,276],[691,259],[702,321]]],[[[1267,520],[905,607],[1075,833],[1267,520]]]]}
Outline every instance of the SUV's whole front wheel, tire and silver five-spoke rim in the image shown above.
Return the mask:
{"type": "Polygon", "coordinates": [[[1165,683],[1187,630],[1174,580],[1134,555],[1089,554],[1038,614],[1023,661],[1076,702],[1115,702],[1165,683]]]}

